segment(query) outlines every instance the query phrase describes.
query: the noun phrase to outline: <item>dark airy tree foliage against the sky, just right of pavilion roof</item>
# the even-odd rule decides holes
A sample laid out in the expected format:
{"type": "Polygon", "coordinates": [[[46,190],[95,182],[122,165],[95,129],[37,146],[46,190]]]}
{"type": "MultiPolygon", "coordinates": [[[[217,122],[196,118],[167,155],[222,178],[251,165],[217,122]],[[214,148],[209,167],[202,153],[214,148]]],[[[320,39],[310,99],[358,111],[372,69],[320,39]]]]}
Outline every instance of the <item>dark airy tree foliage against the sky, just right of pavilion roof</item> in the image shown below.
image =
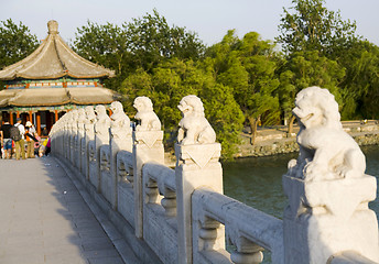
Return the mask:
{"type": "Polygon", "coordinates": [[[83,57],[116,70],[107,87],[118,90],[129,74],[142,68],[149,73],[165,59],[176,57],[197,61],[204,44],[185,28],[170,26],[156,10],[124,22],[98,24],[88,21],[77,29],[74,50],[83,57]]]}

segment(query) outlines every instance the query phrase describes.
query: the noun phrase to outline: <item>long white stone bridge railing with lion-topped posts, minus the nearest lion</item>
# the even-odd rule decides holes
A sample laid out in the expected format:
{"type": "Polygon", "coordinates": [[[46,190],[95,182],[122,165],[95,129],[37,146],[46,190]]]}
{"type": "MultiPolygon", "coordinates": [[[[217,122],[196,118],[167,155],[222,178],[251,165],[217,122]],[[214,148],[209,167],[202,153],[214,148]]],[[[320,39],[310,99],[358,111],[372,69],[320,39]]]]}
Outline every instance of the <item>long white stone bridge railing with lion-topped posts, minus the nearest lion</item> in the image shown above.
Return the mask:
{"type": "Polygon", "coordinates": [[[133,131],[121,103],[113,102],[111,117],[102,106],[96,113],[91,107],[66,113],[51,138],[52,153],[86,186],[142,263],[261,263],[263,250],[273,263],[379,261],[377,219],[367,206],[376,197],[375,177],[361,170],[350,177],[335,162],[346,175],[333,178],[315,167],[317,147],[314,157],[305,156],[303,140],[300,157],[283,176],[289,206],[280,220],[223,195],[220,144],[197,97],[178,106],[174,169],[164,164],[163,132],[150,99],[137,98],[134,107],[133,131]]]}

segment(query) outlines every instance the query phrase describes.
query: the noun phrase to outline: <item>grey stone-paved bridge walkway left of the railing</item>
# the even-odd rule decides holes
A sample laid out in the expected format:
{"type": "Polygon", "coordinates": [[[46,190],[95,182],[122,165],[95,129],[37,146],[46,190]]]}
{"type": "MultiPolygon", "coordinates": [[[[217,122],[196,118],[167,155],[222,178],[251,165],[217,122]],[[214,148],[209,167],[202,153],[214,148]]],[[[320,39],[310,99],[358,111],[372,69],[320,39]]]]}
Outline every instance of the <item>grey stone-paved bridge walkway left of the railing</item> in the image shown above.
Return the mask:
{"type": "Polygon", "coordinates": [[[53,157],[0,160],[0,211],[1,264],[124,263],[53,157]]]}

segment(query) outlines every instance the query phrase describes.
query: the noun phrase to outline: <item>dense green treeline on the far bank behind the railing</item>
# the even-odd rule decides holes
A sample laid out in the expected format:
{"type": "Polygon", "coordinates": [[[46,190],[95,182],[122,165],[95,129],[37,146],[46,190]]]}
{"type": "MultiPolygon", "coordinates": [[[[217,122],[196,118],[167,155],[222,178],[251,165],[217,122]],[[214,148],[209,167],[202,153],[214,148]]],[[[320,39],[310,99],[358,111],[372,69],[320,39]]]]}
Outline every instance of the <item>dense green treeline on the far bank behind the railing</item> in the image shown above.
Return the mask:
{"type": "MultiPolygon", "coordinates": [[[[275,42],[259,33],[239,38],[234,30],[205,46],[196,33],[170,26],[156,10],[121,26],[88,21],[77,29],[73,48],[83,57],[116,70],[106,86],[123,95],[130,117],[137,96],[148,96],[172,142],[181,119],[182,97],[202,98],[224,155],[231,155],[247,124],[285,123],[296,92],[328,88],[343,119],[379,118],[379,47],[356,34],[355,22],[325,8],[325,0],[293,0],[283,9],[275,42]]],[[[0,24],[0,67],[28,55],[35,35],[11,20],[0,24]]]]}

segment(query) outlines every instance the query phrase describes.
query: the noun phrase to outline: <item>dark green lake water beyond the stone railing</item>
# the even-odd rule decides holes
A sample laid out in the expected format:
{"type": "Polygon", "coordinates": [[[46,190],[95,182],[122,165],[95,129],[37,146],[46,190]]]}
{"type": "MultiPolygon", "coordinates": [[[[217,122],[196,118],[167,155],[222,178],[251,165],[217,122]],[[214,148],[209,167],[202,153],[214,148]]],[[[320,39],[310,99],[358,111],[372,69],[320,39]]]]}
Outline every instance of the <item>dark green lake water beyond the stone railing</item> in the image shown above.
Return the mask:
{"type": "MultiPolygon", "coordinates": [[[[361,147],[366,155],[366,174],[379,177],[379,145],[361,147]]],[[[248,206],[282,219],[286,197],[282,175],[286,164],[297,153],[269,157],[248,157],[224,163],[224,194],[248,206]]],[[[377,195],[378,197],[378,195],[377,195]]],[[[379,198],[369,204],[379,217],[379,198]]],[[[378,218],[379,219],[379,218],[378,218]]],[[[270,256],[264,254],[270,263],[270,256]],[[268,257],[268,258],[267,258],[268,257]]]]}

